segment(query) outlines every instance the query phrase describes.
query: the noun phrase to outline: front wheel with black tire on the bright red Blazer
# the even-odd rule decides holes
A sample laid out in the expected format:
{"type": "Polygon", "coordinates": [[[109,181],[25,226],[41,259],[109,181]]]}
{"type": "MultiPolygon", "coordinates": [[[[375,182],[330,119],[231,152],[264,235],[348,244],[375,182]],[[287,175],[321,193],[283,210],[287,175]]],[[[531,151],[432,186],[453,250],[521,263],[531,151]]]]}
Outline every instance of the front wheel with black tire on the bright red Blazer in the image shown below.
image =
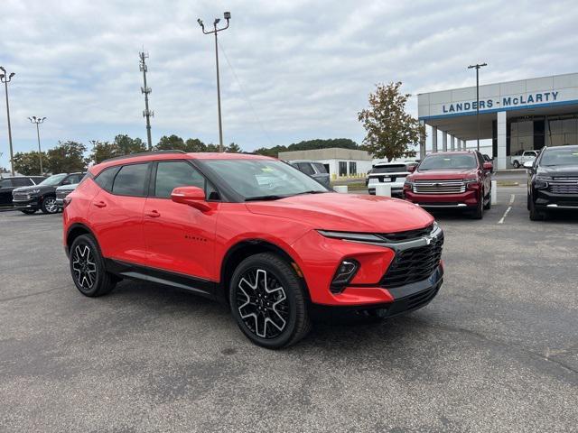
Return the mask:
{"type": "Polygon", "coordinates": [[[228,300],[243,334],[267,349],[294,345],[311,328],[303,282],[274,253],[258,253],[238,265],[228,300]]]}

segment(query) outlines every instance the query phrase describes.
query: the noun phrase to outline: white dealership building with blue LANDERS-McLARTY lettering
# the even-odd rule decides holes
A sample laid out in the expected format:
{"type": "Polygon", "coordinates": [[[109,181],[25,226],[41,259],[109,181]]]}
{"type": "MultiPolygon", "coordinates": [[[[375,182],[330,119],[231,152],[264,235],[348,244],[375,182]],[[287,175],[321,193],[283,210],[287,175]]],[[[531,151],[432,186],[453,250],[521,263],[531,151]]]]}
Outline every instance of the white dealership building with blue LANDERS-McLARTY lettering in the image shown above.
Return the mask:
{"type": "MultiPolygon", "coordinates": [[[[475,86],[423,93],[417,100],[432,152],[476,148],[475,86]]],[[[521,150],[578,144],[578,73],[480,86],[479,118],[480,140],[491,139],[488,153],[498,169],[508,168],[508,156],[521,150]]]]}

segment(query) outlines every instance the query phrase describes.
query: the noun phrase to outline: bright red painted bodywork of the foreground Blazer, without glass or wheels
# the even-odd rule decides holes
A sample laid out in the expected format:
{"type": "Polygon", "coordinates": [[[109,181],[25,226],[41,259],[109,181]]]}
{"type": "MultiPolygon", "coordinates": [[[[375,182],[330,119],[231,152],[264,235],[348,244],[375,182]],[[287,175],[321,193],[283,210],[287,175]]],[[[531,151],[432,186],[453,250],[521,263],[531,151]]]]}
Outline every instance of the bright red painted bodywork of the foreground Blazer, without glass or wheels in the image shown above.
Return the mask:
{"type": "MultiPolygon", "coordinates": [[[[90,172],[97,175],[108,166],[127,161],[207,158],[266,159],[227,153],[151,154],[109,161],[90,172]]],[[[395,253],[383,246],[324,237],[317,230],[395,233],[433,223],[430,214],[404,200],[337,193],[248,203],[203,201],[207,206],[203,211],[170,198],[113,195],[87,179],[69,197],[63,219],[65,244],[69,228],[80,224],[96,236],[107,258],[219,282],[231,248],[247,240],[266,241],[299,266],[312,301],[326,305],[391,302],[390,293],[378,283],[395,253]],[[331,280],[346,258],[360,264],[350,284],[365,287],[349,287],[333,294],[331,280]]]]}

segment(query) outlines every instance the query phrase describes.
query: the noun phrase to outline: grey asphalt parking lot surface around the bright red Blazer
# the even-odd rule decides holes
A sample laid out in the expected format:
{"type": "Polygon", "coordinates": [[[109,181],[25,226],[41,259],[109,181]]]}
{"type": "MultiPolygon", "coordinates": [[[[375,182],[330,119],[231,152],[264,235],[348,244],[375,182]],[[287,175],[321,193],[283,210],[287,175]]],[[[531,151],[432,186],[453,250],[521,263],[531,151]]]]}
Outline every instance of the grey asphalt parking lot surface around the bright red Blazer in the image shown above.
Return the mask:
{"type": "Polygon", "coordinates": [[[578,219],[530,222],[525,194],[436,214],[426,308],[318,318],[278,352],[182,291],[85,298],[61,215],[0,213],[0,431],[578,431],[578,219]]]}

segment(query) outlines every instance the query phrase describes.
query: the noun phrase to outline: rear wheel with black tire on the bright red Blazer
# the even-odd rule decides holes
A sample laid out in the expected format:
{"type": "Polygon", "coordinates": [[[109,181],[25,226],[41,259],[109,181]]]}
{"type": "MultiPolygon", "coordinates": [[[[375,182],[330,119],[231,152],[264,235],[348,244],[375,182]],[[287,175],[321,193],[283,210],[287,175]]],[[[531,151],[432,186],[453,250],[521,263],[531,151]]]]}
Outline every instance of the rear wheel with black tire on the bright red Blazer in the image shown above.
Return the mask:
{"type": "Polygon", "coordinates": [[[80,293],[91,298],[106,295],[117,285],[91,235],[80,235],[70,246],[70,274],[80,293]]]}

